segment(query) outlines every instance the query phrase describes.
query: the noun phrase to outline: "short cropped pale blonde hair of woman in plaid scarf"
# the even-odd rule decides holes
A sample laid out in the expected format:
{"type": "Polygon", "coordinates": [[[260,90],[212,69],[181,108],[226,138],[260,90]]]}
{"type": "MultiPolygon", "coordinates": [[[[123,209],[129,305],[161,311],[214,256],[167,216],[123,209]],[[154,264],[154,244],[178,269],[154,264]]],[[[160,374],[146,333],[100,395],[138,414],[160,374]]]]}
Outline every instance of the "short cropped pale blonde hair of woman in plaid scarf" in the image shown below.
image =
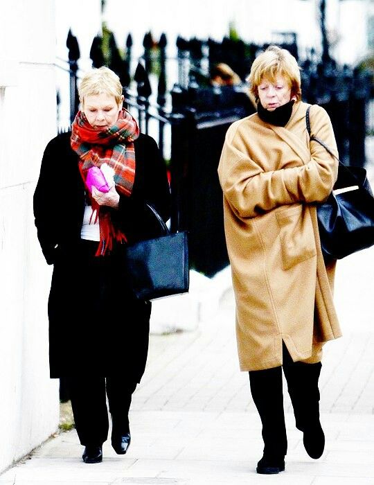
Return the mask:
{"type": "Polygon", "coordinates": [[[112,69],[106,66],[89,71],[83,76],[78,87],[79,100],[82,105],[84,105],[85,96],[95,96],[103,93],[114,96],[118,105],[121,103],[122,85],[120,78],[112,69]]]}

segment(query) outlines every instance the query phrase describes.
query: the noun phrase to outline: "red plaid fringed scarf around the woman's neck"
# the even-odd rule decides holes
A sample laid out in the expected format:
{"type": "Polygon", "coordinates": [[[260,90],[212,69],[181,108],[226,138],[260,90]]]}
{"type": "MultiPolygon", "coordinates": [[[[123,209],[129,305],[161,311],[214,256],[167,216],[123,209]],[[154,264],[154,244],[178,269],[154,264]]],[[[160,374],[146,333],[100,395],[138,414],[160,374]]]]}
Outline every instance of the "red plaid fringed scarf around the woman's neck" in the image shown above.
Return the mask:
{"type": "MultiPolygon", "coordinates": [[[[79,170],[84,184],[87,172],[93,166],[100,167],[106,163],[114,169],[114,182],[118,193],[130,197],[135,178],[134,140],[139,136],[139,127],[135,118],[122,109],[115,125],[106,130],[95,130],[83,112],[78,112],[72,124],[71,148],[79,155],[79,170]]],[[[100,206],[91,197],[92,211],[100,223],[100,244],[96,255],[105,254],[113,247],[113,240],[125,241],[126,236],[114,227],[110,211],[100,206]]]]}

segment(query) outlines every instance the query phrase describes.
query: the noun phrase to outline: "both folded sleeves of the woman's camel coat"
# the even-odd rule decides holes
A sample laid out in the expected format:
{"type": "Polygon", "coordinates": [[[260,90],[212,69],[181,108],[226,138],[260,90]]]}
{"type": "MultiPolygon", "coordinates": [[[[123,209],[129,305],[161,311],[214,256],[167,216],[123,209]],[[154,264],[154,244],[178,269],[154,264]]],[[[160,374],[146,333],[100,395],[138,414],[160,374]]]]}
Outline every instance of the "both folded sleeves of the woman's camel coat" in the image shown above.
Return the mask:
{"type": "MultiPolygon", "coordinates": [[[[310,117],[315,136],[326,140],[337,152],[328,114],[321,107],[314,107],[314,111],[310,117]]],[[[249,145],[247,130],[233,123],[226,133],[218,167],[224,197],[238,217],[256,217],[277,206],[296,202],[321,202],[332,191],[337,160],[319,143],[312,142],[308,163],[266,172],[249,157],[249,145]]]]}

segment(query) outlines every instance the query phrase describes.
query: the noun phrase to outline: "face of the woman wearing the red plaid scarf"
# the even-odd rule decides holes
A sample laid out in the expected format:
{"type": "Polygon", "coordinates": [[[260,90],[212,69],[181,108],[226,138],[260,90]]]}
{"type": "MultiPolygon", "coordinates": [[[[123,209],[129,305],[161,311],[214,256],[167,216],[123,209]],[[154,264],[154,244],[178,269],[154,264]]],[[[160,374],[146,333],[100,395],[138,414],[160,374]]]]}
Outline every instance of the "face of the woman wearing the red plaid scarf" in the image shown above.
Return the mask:
{"type": "Polygon", "coordinates": [[[111,94],[91,94],[84,97],[82,107],[89,124],[95,130],[105,130],[116,124],[122,101],[118,105],[111,94]]]}

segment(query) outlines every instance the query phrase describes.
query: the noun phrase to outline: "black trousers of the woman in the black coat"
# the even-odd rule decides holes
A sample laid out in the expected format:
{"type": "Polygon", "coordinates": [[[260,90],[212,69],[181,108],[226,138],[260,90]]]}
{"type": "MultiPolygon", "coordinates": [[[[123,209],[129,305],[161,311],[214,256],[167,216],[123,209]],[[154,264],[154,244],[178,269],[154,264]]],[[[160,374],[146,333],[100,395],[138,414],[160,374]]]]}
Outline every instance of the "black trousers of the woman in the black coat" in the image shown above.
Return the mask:
{"type": "Polygon", "coordinates": [[[109,412],[117,429],[130,430],[129,410],[132,393],[137,382],[126,382],[119,377],[71,377],[68,378],[71,408],[80,443],[102,445],[109,431],[109,412]]]}

